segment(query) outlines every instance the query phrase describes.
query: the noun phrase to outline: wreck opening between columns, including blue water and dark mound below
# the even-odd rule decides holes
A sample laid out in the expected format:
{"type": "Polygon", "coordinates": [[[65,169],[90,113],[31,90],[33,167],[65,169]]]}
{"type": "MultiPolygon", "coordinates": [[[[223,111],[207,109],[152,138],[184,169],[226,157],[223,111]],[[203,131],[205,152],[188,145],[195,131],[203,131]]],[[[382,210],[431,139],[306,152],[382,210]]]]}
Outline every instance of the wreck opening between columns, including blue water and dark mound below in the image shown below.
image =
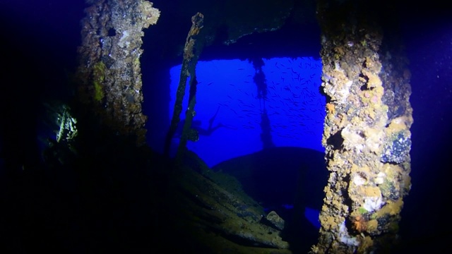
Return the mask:
{"type": "MultiPolygon", "coordinates": [[[[291,246],[305,245],[296,248],[302,252],[317,240],[328,179],[321,145],[326,97],[321,94],[320,49],[316,24],[303,29],[285,25],[229,45],[205,47],[196,65],[192,123],[200,135],[187,144],[214,171],[235,176],[267,214],[275,211],[285,219],[292,228],[284,230],[285,238],[291,246]]],[[[153,104],[145,112],[152,125],[148,143],[157,151],[173,114],[180,63],[182,59],[172,59],[165,68],[155,66],[162,77],[155,83],[163,85],[152,87],[152,99],[146,99],[143,87],[145,101],[153,104]]],[[[184,119],[186,99],[182,107],[184,119]]],[[[173,155],[178,135],[180,131],[173,138],[173,155]]]]}

